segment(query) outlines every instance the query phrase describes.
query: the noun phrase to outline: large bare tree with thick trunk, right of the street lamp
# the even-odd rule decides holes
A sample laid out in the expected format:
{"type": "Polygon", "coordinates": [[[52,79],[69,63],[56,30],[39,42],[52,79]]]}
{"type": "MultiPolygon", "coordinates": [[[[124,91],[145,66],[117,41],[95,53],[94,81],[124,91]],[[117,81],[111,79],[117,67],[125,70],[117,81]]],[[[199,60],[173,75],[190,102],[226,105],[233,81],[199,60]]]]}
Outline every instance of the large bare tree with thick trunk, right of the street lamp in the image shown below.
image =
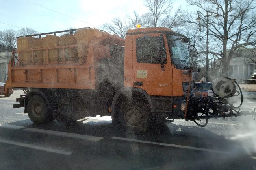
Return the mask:
{"type": "MultiPolygon", "coordinates": [[[[187,0],[202,13],[216,14],[219,8],[220,18],[213,20],[209,17],[210,49],[209,54],[221,60],[221,75],[228,76],[228,65],[235,57],[238,49],[256,45],[255,0],[187,0]]],[[[195,20],[195,19],[194,19],[195,20]]],[[[200,24],[190,20],[190,23],[200,24]]],[[[202,17],[200,26],[206,28],[206,18],[202,17]]],[[[206,34],[205,34],[206,35],[206,34]]],[[[204,39],[203,35],[202,39],[204,39]]],[[[206,51],[203,51],[206,53],[206,51]]]]}

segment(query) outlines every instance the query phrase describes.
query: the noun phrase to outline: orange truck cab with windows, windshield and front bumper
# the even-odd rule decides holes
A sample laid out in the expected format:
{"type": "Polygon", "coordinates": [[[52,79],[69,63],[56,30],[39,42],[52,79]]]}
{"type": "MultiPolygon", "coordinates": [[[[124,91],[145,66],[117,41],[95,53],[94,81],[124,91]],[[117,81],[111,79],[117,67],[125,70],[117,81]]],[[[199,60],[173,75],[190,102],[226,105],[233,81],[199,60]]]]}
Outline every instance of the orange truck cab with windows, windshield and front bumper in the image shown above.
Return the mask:
{"type": "MultiPolygon", "coordinates": [[[[189,38],[165,27],[135,28],[127,31],[124,86],[126,91],[133,91],[132,101],[136,101],[127,112],[137,110],[132,105],[143,99],[143,105],[148,106],[156,122],[162,122],[166,117],[184,117],[184,103],[191,77],[186,42],[189,42],[189,38]]],[[[194,81],[190,84],[192,94],[194,81]]],[[[132,116],[132,113],[128,113],[128,117],[132,116]]],[[[135,114],[134,119],[137,120],[140,116],[139,114],[136,117],[135,114]]]]}

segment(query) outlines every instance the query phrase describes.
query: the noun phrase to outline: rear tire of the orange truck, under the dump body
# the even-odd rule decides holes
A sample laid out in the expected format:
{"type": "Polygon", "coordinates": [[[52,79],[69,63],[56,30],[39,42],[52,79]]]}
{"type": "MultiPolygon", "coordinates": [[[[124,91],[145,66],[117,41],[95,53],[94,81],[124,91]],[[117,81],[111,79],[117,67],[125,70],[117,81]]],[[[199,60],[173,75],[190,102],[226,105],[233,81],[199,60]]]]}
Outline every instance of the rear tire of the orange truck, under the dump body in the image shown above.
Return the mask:
{"type": "Polygon", "coordinates": [[[36,124],[47,123],[53,120],[53,115],[49,112],[46,101],[43,97],[32,96],[27,105],[28,117],[36,124]]]}

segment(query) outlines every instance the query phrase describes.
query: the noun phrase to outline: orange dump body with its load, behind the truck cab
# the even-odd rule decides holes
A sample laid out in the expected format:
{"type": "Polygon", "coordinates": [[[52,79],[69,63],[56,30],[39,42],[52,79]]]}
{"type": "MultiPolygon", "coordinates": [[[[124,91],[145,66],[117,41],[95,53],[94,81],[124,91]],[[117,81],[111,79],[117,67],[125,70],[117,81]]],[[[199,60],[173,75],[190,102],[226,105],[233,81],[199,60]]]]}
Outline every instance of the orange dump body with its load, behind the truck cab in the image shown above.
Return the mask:
{"type": "MultiPolygon", "coordinates": [[[[20,50],[15,51],[19,56],[19,64],[15,66],[15,64],[10,62],[7,86],[9,88],[95,89],[95,87],[97,87],[95,82],[97,83],[98,81],[95,79],[98,78],[99,72],[97,68],[99,67],[99,63],[104,58],[117,57],[115,51],[111,51],[111,49],[113,49],[111,46],[124,46],[124,40],[116,35],[110,35],[109,33],[97,29],[79,31],[80,32],[75,35],[77,44],[61,44],[60,37],[58,44],[55,44],[56,46],[50,44],[49,47],[43,46],[42,48],[30,48],[29,44],[33,43],[33,41],[27,40],[26,42],[28,43],[24,44],[23,39],[31,39],[32,37],[21,37],[19,40],[20,46],[18,48],[20,50]],[[59,52],[56,53],[56,56],[52,56],[51,50],[59,52]],[[41,62],[41,64],[35,62],[37,57],[35,52],[37,51],[41,51],[45,54],[44,62],[41,62]],[[72,53],[71,56],[70,52],[72,51],[75,52],[72,53]],[[29,60],[27,60],[27,58],[29,58],[29,60]],[[54,60],[54,62],[49,62],[51,60],[54,60]]],[[[42,41],[44,41],[44,38],[42,41]]],[[[66,39],[67,38],[69,37],[66,36],[66,39]]],[[[72,36],[72,38],[74,39],[74,36],[72,36]]],[[[121,57],[123,57],[123,55],[121,57]]],[[[119,66],[120,64],[117,63],[117,65],[119,66]]],[[[123,64],[121,64],[121,66],[123,69],[123,64]]]]}

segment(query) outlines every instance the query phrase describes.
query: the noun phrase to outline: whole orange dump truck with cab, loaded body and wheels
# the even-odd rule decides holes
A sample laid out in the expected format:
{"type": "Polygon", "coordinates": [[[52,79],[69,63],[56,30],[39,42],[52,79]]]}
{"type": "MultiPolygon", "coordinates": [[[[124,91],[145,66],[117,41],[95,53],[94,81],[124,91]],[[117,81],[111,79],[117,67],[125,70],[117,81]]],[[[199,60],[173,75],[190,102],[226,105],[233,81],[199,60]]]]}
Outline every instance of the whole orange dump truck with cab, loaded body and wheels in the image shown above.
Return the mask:
{"type": "Polygon", "coordinates": [[[8,65],[5,95],[32,88],[13,107],[25,107],[33,122],[111,115],[115,126],[145,131],[184,118],[194,87],[189,38],[164,27],[129,29],[125,40],[93,28],[32,36],[17,39],[19,62],[8,65]]]}

